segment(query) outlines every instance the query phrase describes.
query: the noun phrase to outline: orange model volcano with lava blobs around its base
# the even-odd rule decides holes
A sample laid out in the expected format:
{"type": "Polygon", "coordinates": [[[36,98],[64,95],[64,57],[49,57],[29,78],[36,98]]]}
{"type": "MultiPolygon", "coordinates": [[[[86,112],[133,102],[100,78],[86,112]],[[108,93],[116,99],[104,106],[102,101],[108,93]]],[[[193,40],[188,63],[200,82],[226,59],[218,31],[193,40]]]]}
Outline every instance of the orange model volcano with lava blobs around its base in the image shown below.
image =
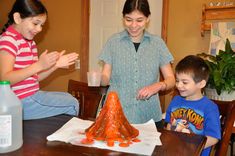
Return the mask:
{"type": "Polygon", "coordinates": [[[139,131],[126,119],[116,92],[108,94],[106,103],[96,121],[85,130],[86,139],[82,143],[90,144],[93,140],[106,141],[108,146],[127,147],[132,142],[139,142],[139,131]]]}

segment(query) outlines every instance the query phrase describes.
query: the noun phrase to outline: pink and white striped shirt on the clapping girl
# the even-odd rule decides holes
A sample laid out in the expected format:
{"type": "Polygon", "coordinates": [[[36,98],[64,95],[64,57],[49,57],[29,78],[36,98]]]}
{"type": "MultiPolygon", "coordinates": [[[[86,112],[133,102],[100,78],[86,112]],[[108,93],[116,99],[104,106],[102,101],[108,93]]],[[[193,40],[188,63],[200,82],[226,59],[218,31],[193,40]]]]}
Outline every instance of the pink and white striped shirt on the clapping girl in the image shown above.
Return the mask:
{"type": "MultiPolygon", "coordinates": [[[[35,42],[24,39],[12,26],[0,36],[0,51],[6,51],[15,57],[13,70],[26,68],[38,60],[35,42]]],[[[11,87],[20,99],[33,95],[39,90],[38,75],[32,75],[11,87]]]]}

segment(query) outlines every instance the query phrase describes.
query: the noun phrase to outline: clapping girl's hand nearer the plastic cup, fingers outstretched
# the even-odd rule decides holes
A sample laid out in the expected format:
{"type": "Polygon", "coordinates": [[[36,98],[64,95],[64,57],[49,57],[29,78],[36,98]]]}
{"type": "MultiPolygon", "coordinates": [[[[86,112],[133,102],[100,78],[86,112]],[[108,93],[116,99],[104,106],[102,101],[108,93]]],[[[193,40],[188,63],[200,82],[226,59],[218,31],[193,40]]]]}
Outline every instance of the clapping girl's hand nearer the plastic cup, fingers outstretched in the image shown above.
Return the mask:
{"type": "Polygon", "coordinates": [[[64,55],[65,50],[60,52],[60,56],[59,59],[56,61],[56,67],[57,68],[66,68],[72,64],[75,63],[75,60],[78,59],[78,54],[73,52],[73,53],[69,53],[64,55]]]}

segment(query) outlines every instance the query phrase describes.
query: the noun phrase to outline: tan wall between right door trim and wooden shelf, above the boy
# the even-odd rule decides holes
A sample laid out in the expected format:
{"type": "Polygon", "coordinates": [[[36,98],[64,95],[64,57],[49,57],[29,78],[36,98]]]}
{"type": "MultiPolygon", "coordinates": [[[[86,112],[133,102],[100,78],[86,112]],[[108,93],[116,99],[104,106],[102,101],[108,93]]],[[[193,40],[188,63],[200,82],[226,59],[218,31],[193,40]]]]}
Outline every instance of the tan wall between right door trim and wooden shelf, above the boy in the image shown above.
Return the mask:
{"type": "MultiPolygon", "coordinates": [[[[224,2],[222,0],[169,0],[167,45],[175,58],[174,67],[186,55],[208,51],[210,32],[206,32],[204,37],[201,37],[200,33],[202,5],[219,1],[224,2]]],[[[170,100],[171,95],[168,95],[165,99],[166,106],[170,100]]]]}

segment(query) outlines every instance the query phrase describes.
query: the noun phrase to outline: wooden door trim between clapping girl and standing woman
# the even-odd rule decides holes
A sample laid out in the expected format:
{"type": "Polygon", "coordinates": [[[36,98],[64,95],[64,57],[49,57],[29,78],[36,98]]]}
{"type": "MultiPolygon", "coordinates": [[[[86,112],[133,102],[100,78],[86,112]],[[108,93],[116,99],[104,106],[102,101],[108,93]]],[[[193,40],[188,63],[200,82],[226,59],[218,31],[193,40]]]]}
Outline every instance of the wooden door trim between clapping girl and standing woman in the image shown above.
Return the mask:
{"type": "Polygon", "coordinates": [[[87,71],[89,69],[89,15],[90,1],[82,0],[81,7],[81,51],[80,51],[80,80],[87,81],[87,71]]]}

